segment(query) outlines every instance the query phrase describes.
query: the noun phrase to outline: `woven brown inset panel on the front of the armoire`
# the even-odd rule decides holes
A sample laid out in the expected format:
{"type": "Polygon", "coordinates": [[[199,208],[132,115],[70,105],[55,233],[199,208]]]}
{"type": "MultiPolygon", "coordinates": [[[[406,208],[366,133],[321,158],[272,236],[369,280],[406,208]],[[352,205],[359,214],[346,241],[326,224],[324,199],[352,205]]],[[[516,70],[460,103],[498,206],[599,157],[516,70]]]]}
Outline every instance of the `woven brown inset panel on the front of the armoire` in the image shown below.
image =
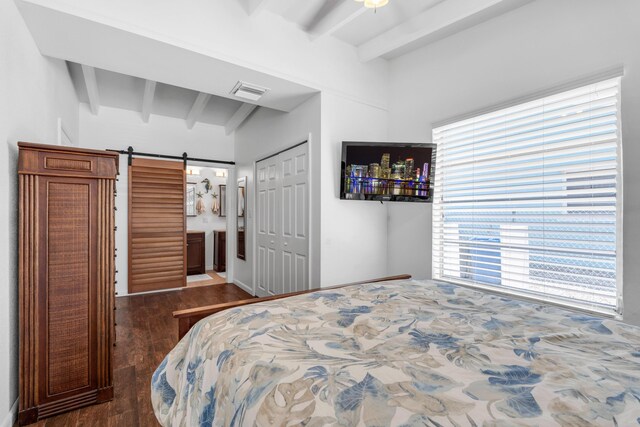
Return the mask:
{"type": "Polygon", "coordinates": [[[40,324],[46,328],[46,349],[40,363],[46,375],[47,397],[92,386],[95,354],[95,263],[91,247],[97,237],[96,181],[43,179],[42,198],[46,251],[42,271],[46,280],[40,324]]]}

